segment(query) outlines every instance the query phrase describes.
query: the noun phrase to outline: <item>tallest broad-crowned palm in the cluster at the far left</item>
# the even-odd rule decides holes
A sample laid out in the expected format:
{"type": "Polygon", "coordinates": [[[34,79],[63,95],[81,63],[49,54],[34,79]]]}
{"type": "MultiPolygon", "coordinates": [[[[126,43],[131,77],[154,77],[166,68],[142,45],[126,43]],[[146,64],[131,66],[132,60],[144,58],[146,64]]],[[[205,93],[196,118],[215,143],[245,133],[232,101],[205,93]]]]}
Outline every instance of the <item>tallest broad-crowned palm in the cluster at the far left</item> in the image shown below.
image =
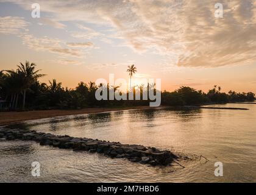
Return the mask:
{"type": "Polygon", "coordinates": [[[29,63],[26,61],[25,65],[20,63],[18,65],[18,73],[23,76],[23,110],[25,108],[25,101],[26,101],[26,91],[30,88],[30,86],[37,81],[38,78],[44,76],[44,74],[38,74],[39,70],[35,70],[35,63],[29,63]]]}

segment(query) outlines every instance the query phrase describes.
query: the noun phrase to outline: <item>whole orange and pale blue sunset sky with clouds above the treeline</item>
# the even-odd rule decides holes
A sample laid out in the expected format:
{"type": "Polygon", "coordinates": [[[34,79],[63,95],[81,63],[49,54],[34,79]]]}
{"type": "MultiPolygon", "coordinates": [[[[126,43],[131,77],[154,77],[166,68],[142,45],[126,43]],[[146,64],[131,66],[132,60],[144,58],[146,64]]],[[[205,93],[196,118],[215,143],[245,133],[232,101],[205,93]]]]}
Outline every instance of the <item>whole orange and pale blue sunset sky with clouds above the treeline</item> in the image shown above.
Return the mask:
{"type": "Polygon", "coordinates": [[[0,0],[0,69],[34,62],[64,86],[99,78],[162,79],[207,91],[256,93],[254,0],[0,0]],[[215,4],[224,6],[215,18],[215,4]]]}

